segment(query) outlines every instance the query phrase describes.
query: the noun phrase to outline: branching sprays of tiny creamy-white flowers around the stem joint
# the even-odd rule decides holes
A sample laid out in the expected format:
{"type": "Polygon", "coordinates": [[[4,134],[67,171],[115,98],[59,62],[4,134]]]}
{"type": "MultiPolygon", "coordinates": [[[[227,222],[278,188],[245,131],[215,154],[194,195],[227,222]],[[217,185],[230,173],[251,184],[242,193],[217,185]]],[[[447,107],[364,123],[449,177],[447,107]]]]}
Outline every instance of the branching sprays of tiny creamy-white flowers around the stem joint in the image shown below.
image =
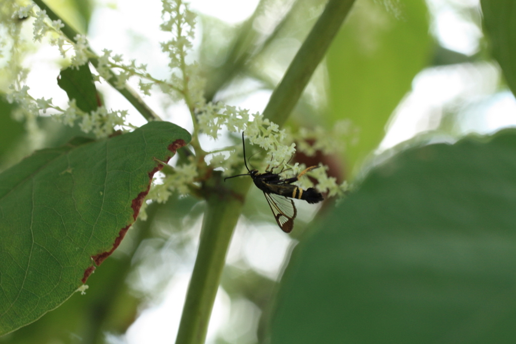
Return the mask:
{"type": "MultiPolygon", "coordinates": [[[[233,172],[246,172],[241,161],[242,148],[240,144],[215,152],[204,152],[197,140],[201,133],[217,139],[223,129],[230,133],[244,132],[245,138],[252,145],[258,145],[261,150],[267,153],[264,161],[269,166],[269,170],[279,173],[280,170],[288,169],[288,173],[294,175],[299,173],[302,168],[298,163],[294,166],[288,166],[288,168],[285,167],[296,152],[294,141],[298,142],[298,149],[309,156],[314,155],[316,151],[322,151],[326,154],[338,153],[341,148],[344,148],[345,143],[342,142],[342,138],[349,137],[350,133],[353,132],[353,128],[346,121],[334,125],[331,133],[320,127],[315,127],[311,130],[300,129],[296,135],[290,135],[285,132],[285,129],[280,130],[277,124],[265,119],[260,113],[249,113],[247,109],[223,103],[207,103],[203,96],[205,80],[200,76],[199,65],[196,62],[186,62],[195,34],[195,14],[188,9],[187,4],[182,0],[162,0],[162,5],[163,24],[160,25],[160,28],[165,32],[170,32],[172,37],[170,40],[161,43],[162,51],[169,57],[168,65],[171,74],[168,80],[154,78],[147,72],[147,65],[138,64],[135,60],[124,62],[121,55],[113,54],[112,51],[107,49],[103,50],[103,54],[97,57],[98,67],[96,67],[96,71],[98,75],[94,75],[96,80],[100,80],[100,78],[111,80],[115,76],[115,87],[119,89],[124,88],[126,81],[131,77],[139,77],[138,86],[143,94],[150,95],[152,87],[157,86],[166,94],[176,98],[180,96],[184,99],[191,112],[194,126],[192,133],[194,139],[191,145],[195,153],[200,155],[195,160],[191,159],[184,165],[174,167],[173,173],[168,173],[162,184],[156,183],[151,188],[149,199],[164,202],[173,190],[180,194],[189,193],[192,188],[197,187],[196,183],[202,177],[199,176],[198,171],[206,168],[205,165],[200,167],[198,164],[201,163],[202,165],[202,163],[207,163],[208,160],[208,170],[221,168],[225,176],[233,172]],[[234,171],[235,169],[238,170],[234,171]]],[[[85,36],[77,35],[74,41],[68,40],[60,31],[63,24],[59,20],[51,21],[44,10],[38,10],[34,5],[29,5],[20,7],[14,12],[14,16],[19,18],[35,17],[35,41],[41,41],[44,36],[49,36],[50,42],[58,46],[63,57],[68,54],[66,45],[69,44],[70,47],[73,47],[73,55],[71,56],[73,67],[78,68],[80,65],[87,63],[88,59],[95,57],[85,36]]],[[[78,123],[85,132],[93,132],[97,137],[106,137],[113,132],[115,126],[120,127],[125,123],[124,119],[127,111],[113,111],[107,110],[105,107],[99,107],[91,113],[85,113],[76,106],[75,101],[70,101],[68,108],[63,110],[54,106],[52,99],[33,99],[27,92],[27,86],[19,88],[18,91],[12,90],[9,95],[10,101],[20,104],[25,112],[33,118],[39,116],[41,111],[46,112],[47,109],[52,109],[53,116],[62,123],[67,125],[78,123]]],[[[250,155],[250,152],[247,152],[247,156],[250,155]]],[[[263,169],[263,166],[260,168],[263,169]]],[[[329,192],[330,195],[334,195],[341,194],[344,189],[343,186],[336,184],[335,178],[327,176],[326,168],[316,169],[310,172],[310,175],[318,180],[317,188],[322,192],[329,192]]],[[[309,178],[302,179],[303,182],[309,181],[309,178]]]]}

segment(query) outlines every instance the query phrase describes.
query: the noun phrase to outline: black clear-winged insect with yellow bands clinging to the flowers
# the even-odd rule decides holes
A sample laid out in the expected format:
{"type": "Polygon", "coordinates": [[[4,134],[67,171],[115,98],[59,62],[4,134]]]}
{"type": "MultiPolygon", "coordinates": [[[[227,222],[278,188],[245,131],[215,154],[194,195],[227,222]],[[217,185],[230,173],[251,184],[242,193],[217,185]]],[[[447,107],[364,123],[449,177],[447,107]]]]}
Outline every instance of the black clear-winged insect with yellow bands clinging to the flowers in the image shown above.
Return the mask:
{"type": "MultiPolygon", "coordinates": [[[[246,145],[244,143],[244,133],[242,133],[242,144],[244,145],[244,164],[249,173],[237,174],[226,179],[248,175],[253,179],[254,185],[263,191],[267,203],[269,203],[270,210],[285,233],[290,233],[294,227],[294,219],[297,215],[297,209],[294,205],[293,198],[298,200],[305,200],[308,203],[318,203],[323,200],[322,195],[315,188],[308,188],[303,190],[292,183],[297,182],[305,173],[317,168],[318,166],[311,166],[297,176],[292,178],[281,178],[279,173],[273,173],[272,169],[265,169],[264,173],[258,170],[249,170],[246,162],[246,145]]],[[[283,172],[280,171],[280,173],[283,172]]]]}

